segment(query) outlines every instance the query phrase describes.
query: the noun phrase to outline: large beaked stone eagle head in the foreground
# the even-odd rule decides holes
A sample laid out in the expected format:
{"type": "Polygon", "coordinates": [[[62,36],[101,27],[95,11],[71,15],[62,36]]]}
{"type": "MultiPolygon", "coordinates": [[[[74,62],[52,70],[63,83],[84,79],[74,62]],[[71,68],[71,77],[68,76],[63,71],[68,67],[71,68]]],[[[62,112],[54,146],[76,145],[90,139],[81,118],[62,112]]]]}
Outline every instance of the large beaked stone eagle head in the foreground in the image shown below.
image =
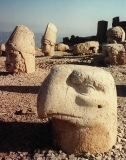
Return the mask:
{"type": "Polygon", "coordinates": [[[52,118],[54,144],[68,154],[101,153],[116,143],[116,87],[98,67],[53,67],[40,88],[37,112],[52,118]]]}

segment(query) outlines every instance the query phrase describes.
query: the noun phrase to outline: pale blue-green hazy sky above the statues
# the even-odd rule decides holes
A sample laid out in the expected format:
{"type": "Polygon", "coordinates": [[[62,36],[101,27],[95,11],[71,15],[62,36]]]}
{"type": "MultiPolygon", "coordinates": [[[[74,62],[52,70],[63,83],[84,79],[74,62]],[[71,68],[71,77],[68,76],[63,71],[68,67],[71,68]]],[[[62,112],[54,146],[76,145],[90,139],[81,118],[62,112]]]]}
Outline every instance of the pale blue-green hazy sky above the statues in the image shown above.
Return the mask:
{"type": "Polygon", "coordinates": [[[0,31],[13,31],[25,25],[44,33],[48,23],[57,27],[57,35],[86,37],[97,34],[97,23],[119,16],[126,21],[126,0],[0,0],[0,31]]]}

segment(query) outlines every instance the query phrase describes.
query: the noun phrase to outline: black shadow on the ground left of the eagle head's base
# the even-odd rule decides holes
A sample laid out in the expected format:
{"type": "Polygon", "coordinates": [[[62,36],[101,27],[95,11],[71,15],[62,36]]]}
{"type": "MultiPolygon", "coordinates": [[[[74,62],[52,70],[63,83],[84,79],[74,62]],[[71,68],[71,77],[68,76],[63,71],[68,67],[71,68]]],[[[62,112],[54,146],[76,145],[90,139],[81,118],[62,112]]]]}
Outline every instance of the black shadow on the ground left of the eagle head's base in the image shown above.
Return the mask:
{"type": "Polygon", "coordinates": [[[30,152],[50,149],[51,124],[0,122],[0,152],[30,152]]]}

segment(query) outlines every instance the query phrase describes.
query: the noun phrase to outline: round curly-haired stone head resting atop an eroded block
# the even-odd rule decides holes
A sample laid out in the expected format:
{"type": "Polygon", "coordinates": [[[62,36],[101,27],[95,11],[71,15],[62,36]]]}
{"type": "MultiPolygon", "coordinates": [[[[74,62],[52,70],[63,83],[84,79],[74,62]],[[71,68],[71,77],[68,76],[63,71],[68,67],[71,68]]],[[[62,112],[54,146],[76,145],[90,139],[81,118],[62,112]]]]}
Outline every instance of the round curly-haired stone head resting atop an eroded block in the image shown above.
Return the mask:
{"type": "Polygon", "coordinates": [[[106,35],[107,43],[120,43],[125,40],[125,32],[120,26],[108,29],[106,35]]]}

